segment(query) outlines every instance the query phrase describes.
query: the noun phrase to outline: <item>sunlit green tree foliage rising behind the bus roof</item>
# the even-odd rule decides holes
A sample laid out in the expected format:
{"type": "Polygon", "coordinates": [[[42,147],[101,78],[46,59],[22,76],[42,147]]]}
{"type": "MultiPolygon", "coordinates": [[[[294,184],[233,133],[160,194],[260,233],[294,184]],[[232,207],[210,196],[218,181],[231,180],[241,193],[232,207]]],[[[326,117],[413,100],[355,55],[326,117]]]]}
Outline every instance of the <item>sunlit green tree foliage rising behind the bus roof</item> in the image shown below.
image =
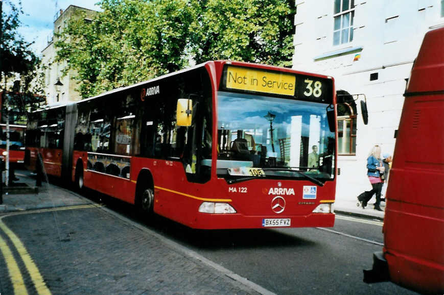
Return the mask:
{"type": "Polygon", "coordinates": [[[88,97],[176,71],[190,60],[230,59],[289,66],[294,1],[102,0],[56,34],[58,60],[77,72],[88,97]]]}

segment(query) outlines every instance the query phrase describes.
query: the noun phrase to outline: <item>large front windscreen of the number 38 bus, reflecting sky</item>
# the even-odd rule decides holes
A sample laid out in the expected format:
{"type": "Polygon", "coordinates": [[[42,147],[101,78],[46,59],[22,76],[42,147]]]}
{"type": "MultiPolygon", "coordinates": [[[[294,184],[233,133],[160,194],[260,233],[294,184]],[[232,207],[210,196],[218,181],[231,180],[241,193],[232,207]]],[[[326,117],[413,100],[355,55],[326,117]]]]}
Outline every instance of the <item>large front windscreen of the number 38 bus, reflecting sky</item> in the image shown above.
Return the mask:
{"type": "Polygon", "coordinates": [[[325,104],[220,91],[217,108],[218,174],[334,177],[325,104]]]}

